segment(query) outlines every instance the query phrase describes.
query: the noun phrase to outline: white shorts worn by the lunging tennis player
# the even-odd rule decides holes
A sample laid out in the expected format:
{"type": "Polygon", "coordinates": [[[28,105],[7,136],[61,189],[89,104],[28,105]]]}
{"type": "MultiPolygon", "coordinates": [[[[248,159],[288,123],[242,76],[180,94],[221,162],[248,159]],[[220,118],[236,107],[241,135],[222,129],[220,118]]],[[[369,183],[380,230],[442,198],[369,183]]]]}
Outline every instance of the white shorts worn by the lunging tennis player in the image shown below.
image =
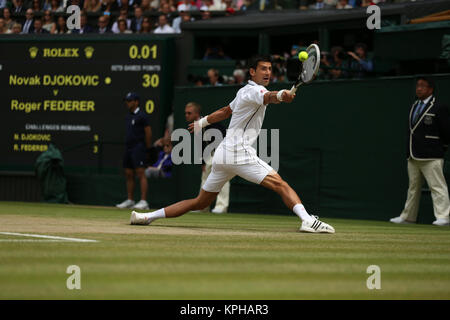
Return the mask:
{"type": "Polygon", "coordinates": [[[224,184],[235,176],[260,184],[269,173],[275,172],[270,165],[256,155],[249,157],[244,164],[220,163],[214,161],[216,156],[217,152],[214,155],[211,173],[202,187],[207,192],[220,192],[224,184]]]}

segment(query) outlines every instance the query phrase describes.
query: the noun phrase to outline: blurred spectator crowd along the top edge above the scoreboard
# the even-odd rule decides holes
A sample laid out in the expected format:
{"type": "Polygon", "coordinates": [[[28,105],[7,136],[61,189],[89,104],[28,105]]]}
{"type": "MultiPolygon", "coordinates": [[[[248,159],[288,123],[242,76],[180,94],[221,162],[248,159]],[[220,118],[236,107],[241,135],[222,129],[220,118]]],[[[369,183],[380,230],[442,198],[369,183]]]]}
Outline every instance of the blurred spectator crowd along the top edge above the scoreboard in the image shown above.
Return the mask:
{"type": "Polygon", "coordinates": [[[211,19],[211,12],[298,8],[351,9],[410,0],[0,0],[0,34],[180,33],[181,23],[211,19]],[[66,9],[82,9],[81,28],[69,30],[66,9]],[[151,13],[151,15],[149,14],[151,13]],[[96,21],[88,21],[95,14],[96,21]]]}

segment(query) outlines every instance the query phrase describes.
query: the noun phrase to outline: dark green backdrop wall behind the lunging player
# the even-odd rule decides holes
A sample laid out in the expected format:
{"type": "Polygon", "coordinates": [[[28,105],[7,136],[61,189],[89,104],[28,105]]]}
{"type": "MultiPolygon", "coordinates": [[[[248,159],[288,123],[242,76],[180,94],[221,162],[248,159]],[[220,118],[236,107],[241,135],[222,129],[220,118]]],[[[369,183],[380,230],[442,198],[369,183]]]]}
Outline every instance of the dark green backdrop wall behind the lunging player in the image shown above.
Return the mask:
{"type": "MultiPolygon", "coordinates": [[[[438,97],[450,102],[450,76],[436,80],[438,97]]],[[[207,114],[231,102],[238,89],[176,88],[175,128],[187,125],[187,102],[200,103],[207,114]]],[[[292,104],[270,105],[266,111],[263,128],[280,133],[278,172],[314,214],[380,220],[398,216],[408,187],[406,133],[413,101],[413,77],[317,81],[302,87],[292,104]]],[[[448,155],[445,173],[449,180],[448,155]]],[[[177,179],[180,198],[195,196],[200,166],[179,166],[177,179]]],[[[426,186],[422,200],[419,221],[432,221],[426,186]]],[[[232,180],[230,211],[290,213],[276,194],[240,178],[232,180]]]]}

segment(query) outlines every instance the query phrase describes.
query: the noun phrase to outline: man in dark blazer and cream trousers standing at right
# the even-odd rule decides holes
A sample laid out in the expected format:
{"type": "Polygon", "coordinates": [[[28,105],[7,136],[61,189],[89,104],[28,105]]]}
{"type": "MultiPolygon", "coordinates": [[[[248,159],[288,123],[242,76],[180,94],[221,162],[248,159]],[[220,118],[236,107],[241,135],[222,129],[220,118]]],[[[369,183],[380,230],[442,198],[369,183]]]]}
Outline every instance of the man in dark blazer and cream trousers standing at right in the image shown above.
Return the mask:
{"type": "Polygon", "coordinates": [[[408,125],[408,195],[401,215],[390,220],[393,223],[416,222],[425,178],[433,199],[433,225],[449,225],[450,200],[443,165],[450,142],[450,114],[434,95],[434,89],[433,79],[417,79],[418,100],[411,107],[408,125]]]}

